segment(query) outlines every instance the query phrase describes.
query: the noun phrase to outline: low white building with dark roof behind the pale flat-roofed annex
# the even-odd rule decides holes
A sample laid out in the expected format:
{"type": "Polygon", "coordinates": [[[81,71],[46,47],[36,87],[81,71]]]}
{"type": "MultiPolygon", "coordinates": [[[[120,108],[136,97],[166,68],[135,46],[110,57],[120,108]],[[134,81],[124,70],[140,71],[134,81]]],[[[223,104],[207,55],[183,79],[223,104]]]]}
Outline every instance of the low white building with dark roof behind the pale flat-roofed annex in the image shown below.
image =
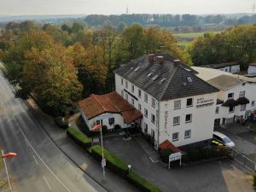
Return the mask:
{"type": "Polygon", "coordinates": [[[239,73],[240,72],[240,64],[237,62],[209,64],[209,65],[203,65],[201,67],[215,68],[220,71],[224,71],[224,72],[228,72],[228,73],[239,73]]]}

